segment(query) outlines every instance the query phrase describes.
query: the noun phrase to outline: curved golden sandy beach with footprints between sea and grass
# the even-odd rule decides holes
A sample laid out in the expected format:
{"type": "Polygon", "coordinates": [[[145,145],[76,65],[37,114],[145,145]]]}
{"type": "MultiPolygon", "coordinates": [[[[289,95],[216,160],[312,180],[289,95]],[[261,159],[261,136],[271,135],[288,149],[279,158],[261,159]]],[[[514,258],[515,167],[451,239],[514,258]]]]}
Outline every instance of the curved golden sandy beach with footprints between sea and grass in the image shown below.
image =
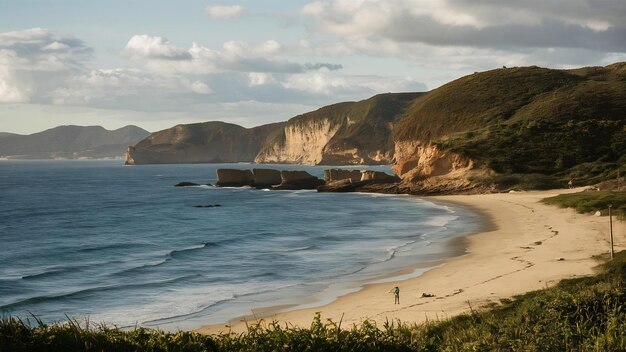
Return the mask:
{"type": "MultiPolygon", "coordinates": [[[[609,219],[577,214],[540,203],[553,195],[582,189],[429,197],[457,203],[485,215],[486,231],[466,237],[467,254],[423,275],[396,282],[370,284],[330,304],[281,313],[263,307],[254,316],[265,321],[307,327],[316,312],[349,327],[365,319],[420,323],[481,309],[500,299],[552,286],[559,280],[590,275],[599,255],[609,253],[609,219]],[[389,291],[399,286],[400,304],[389,291]],[[426,293],[433,297],[422,297],[426,293]]],[[[626,226],[613,221],[615,251],[626,248],[626,226]]],[[[200,328],[202,333],[244,331],[254,317],[200,328]]]]}

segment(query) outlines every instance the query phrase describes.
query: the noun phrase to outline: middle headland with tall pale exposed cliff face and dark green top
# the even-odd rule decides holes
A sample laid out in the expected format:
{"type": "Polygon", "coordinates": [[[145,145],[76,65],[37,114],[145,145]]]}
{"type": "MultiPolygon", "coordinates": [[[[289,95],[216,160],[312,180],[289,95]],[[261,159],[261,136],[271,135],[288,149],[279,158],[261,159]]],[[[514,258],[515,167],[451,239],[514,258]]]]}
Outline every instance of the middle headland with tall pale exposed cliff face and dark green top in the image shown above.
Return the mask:
{"type": "Polygon", "coordinates": [[[380,94],[296,116],[255,158],[257,163],[389,164],[393,123],[421,93],[380,94]]]}

